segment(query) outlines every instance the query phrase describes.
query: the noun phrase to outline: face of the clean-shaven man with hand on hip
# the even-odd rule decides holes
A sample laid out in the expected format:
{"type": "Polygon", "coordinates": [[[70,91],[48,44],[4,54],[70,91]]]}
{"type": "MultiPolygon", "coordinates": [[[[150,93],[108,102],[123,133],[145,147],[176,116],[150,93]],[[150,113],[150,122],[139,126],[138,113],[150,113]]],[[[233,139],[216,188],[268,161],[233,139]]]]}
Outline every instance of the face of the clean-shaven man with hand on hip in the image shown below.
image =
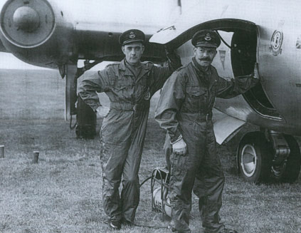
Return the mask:
{"type": "Polygon", "coordinates": [[[122,46],[122,52],[125,54],[127,62],[135,65],[140,62],[140,58],[144,51],[144,46],[140,42],[127,43],[122,46]]]}

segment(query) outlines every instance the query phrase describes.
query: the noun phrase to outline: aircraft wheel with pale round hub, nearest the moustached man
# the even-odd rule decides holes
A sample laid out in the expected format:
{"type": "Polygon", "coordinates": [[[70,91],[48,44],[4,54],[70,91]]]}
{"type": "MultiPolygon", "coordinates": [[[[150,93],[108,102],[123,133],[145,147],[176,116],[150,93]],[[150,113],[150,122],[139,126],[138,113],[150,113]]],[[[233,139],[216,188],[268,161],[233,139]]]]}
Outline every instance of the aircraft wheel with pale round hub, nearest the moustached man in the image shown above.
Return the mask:
{"type": "Polygon", "coordinates": [[[262,132],[243,136],[238,146],[238,170],[248,182],[267,182],[270,177],[272,153],[262,132]]]}

